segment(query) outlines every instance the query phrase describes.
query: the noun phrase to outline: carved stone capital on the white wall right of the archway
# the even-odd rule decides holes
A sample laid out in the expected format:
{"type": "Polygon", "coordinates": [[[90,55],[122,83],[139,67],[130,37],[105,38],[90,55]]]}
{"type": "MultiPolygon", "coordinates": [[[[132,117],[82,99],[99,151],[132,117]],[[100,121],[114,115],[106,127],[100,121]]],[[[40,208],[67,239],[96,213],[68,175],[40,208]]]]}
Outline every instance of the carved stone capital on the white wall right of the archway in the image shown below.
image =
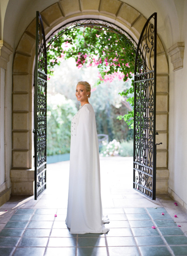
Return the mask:
{"type": "Polygon", "coordinates": [[[177,42],[168,49],[168,54],[171,57],[173,71],[183,68],[184,59],[184,42],[177,42]]]}

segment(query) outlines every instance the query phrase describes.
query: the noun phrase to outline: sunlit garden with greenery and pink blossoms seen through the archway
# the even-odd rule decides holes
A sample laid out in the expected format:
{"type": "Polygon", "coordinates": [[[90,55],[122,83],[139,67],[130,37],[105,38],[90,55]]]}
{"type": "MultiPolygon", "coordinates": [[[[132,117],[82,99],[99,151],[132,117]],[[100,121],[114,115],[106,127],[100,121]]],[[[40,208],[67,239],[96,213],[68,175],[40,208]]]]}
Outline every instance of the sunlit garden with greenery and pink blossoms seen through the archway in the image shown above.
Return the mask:
{"type": "Polygon", "coordinates": [[[78,81],[91,84],[103,157],[133,155],[134,51],[120,35],[103,28],[72,29],[48,49],[47,156],[70,151],[71,120],[80,107],[78,81]]]}

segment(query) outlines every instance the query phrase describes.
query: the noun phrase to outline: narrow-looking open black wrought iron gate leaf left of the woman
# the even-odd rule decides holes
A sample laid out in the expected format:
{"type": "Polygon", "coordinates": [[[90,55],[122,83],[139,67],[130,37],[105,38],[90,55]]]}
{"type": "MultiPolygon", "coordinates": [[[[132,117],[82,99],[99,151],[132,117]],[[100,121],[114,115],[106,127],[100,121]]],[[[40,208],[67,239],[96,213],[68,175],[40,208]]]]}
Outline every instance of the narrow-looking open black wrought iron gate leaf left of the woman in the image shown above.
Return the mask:
{"type": "Polygon", "coordinates": [[[34,199],[46,189],[47,54],[42,18],[36,12],[34,88],[34,199]]]}

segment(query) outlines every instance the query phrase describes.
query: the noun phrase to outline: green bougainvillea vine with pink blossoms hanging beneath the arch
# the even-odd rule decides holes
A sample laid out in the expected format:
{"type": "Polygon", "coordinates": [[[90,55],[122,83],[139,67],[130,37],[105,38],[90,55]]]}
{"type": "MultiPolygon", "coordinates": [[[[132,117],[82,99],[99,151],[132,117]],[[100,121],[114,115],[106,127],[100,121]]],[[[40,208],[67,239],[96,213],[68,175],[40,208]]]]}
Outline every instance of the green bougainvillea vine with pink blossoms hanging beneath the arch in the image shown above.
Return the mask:
{"type": "MultiPolygon", "coordinates": [[[[55,65],[60,65],[62,59],[75,58],[78,68],[97,66],[99,78],[95,85],[111,82],[114,76],[122,76],[123,81],[132,78],[134,73],[135,51],[121,35],[109,28],[79,27],[66,30],[50,43],[47,51],[48,74],[53,74],[55,65]]],[[[127,96],[127,102],[133,107],[134,81],[131,87],[122,91],[122,99],[127,96]]],[[[118,116],[124,119],[129,128],[133,128],[134,111],[118,116]]]]}

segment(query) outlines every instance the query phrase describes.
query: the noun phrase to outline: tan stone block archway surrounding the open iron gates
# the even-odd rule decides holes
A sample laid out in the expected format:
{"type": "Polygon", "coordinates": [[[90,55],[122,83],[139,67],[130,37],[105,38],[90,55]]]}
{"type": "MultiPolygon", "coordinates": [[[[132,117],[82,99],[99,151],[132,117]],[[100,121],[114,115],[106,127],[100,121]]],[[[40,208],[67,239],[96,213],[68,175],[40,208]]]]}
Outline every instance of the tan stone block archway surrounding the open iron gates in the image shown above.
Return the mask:
{"type": "MultiPolygon", "coordinates": [[[[63,24],[80,18],[101,18],[127,31],[136,42],[146,18],[119,0],[62,0],[41,12],[46,37],[63,24]]],[[[33,81],[35,56],[35,20],[22,35],[13,62],[13,148],[12,194],[33,195],[33,81]]],[[[157,36],[156,131],[158,194],[168,191],[168,61],[157,36]]],[[[132,181],[133,182],[133,181],[132,181]]]]}

